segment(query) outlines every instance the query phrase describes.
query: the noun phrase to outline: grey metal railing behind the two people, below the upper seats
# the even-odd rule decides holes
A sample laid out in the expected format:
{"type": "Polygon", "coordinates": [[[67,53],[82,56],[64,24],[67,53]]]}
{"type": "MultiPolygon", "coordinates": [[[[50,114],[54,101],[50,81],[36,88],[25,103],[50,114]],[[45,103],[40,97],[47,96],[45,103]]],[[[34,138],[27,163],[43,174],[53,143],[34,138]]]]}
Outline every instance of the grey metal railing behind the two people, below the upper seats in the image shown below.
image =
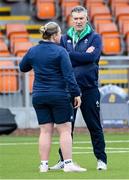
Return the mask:
{"type": "MultiPolygon", "coordinates": [[[[13,66],[0,65],[0,106],[2,107],[32,106],[30,73],[20,72],[18,67],[20,60],[21,58],[18,57],[0,58],[0,63],[11,61],[14,64],[13,66]]],[[[117,85],[129,94],[129,56],[101,57],[99,87],[108,84],[117,85]]]]}

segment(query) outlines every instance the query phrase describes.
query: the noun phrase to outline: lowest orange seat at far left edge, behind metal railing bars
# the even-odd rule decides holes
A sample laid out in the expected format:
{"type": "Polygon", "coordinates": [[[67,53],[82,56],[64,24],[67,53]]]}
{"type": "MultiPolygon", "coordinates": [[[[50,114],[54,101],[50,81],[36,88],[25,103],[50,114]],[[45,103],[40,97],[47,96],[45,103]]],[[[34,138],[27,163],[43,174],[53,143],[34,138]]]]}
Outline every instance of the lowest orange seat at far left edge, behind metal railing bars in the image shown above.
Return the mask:
{"type": "Polygon", "coordinates": [[[0,61],[0,93],[18,91],[18,73],[13,61],[0,61]]]}

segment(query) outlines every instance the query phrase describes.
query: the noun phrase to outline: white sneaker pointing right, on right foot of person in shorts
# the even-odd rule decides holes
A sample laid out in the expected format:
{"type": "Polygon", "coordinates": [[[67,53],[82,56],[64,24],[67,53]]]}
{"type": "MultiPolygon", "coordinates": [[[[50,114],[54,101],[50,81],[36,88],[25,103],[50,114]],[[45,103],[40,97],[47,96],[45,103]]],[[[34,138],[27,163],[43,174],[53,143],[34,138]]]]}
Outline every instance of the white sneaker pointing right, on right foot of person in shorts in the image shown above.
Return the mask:
{"type": "Polygon", "coordinates": [[[64,165],[64,172],[84,172],[84,171],[87,171],[87,169],[81,168],[80,166],[74,163],[69,163],[64,165]]]}

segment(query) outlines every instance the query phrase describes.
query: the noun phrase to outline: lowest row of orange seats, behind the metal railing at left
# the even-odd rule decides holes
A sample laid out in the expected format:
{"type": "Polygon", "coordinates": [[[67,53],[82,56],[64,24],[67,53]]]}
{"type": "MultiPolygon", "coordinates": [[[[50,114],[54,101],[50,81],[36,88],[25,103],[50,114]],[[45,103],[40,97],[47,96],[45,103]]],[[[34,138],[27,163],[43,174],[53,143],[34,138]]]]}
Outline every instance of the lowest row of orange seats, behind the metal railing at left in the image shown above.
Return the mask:
{"type": "MultiPolygon", "coordinates": [[[[0,93],[16,93],[21,91],[21,74],[13,60],[0,61],[0,93]]],[[[33,71],[29,74],[29,91],[32,92],[33,71]]]]}

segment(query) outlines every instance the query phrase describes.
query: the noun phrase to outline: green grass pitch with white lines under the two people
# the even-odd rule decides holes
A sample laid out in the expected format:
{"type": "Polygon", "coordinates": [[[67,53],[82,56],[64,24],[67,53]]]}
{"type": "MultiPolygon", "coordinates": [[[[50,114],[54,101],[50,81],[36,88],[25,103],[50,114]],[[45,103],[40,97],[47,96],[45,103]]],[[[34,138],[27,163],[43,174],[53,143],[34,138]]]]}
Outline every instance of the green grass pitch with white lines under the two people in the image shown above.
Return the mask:
{"type": "MultiPolygon", "coordinates": [[[[39,173],[38,137],[0,137],[0,179],[129,179],[129,133],[105,134],[108,170],[96,170],[88,134],[75,135],[73,160],[87,168],[83,173],[39,173]]],[[[49,166],[58,160],[58,137],[53,137],[49,166]]]]}

